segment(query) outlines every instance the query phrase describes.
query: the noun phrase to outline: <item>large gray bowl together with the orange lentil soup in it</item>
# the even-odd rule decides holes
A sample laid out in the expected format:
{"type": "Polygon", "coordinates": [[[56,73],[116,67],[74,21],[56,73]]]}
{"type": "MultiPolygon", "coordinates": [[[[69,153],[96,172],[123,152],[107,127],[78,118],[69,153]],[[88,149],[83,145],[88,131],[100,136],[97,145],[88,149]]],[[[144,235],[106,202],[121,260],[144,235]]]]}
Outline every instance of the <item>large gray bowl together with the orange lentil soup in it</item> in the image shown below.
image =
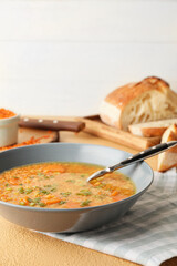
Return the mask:
{"type": "Polygon", "coordinates": [[[148,188],[147,163],[88,175],[129,154],[101,145],[49,143],[0,153],[0,214],[43,232],[80,232],[121,218],[148,188]]]}

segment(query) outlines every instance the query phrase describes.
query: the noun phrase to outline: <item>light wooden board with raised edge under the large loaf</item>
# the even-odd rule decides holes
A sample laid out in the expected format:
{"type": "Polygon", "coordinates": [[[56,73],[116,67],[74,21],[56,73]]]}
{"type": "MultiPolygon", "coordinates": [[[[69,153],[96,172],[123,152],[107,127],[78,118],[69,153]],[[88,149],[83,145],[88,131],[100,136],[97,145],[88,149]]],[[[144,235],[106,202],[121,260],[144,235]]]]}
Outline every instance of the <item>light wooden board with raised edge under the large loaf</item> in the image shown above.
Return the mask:
{"type": "Polygon", "coordinates": [[[98,115],[79,117],[77,120],[85,123],[85,132],[138,151],[143,151],[160,143],[160,137],[158,136],[142,137],[108,126],[100,120],[98,115]]]}

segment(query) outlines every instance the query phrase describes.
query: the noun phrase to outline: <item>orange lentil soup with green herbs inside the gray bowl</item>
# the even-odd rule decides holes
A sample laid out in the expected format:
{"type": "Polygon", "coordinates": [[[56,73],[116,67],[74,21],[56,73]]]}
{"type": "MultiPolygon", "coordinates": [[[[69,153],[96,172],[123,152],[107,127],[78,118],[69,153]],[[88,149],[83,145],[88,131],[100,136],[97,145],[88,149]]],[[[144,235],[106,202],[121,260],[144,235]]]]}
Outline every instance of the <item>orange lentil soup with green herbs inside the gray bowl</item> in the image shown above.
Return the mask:
{"type": "Polygon", "coordinates": [[[12,204],[80,208],[117,202],[135,194],[127,176],[114,172],[86,182],[103,167],[85,163],[48,162],[11,168],[0,174],[0,201],[12,204]]]}

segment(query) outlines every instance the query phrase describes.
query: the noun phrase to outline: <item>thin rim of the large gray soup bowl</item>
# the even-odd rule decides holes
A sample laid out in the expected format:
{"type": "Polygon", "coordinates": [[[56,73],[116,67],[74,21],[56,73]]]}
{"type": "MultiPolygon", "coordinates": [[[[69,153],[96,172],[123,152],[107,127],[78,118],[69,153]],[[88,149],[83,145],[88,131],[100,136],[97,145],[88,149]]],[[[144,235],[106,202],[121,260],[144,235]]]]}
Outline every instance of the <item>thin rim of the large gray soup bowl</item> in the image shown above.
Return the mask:
{"type": "MultiPolygon", "coordinates": [[[[12,152],[13,150],[21,150],[21,149],[28,149],[28,147],[33,147],[33,146],[46,146],[46,145],[87,145],[87,146],[97,146],[97,147],[105,147],[105,149],[112,149],[112,150],[118,150],[123,153],[126,153],[127,155],[133,155],[128,152],[125,152],[123,150],[119,150],[119,149],[115,149],[115,147],[110,147],[110,146],[104,146],[104,145],[98,145],[98,144],[88,144],[88,143],[40,143],[40,144],[33,144],[33,145],[27,145],[27,146],[20,146],[20,147],[14,147],[14,149],[11,149],[11,150],[6,150],[6,151],[2,151],[1,153],[6,153],[6,152],[12,152]]],[[[42,162],[41,162],[42,163],[42,162]]],[[[8,205],[10,207],[14,207],[14,208],[21,208],[21,209],[25,209],[25,211],[34,211],[34,212],[79,212],[79,211],[90,211],[90,209],[96,209],[96,208],[106,208],[108,206],[113,206],[113,205],[117,205],[118,203],[124,203],[124,202],[127,202],[127,201],[132,201],[134,200],[135,197],[139,197],[142,194],[144,194],[148,187],[152,185],[153,181],[154,181],[154,171],[152,170],[152,167],[149,166],[148,163],[146,163],[145,161],[142,162],[144,165],[146,165],[146,167],[148,167],[149,172],[150,172],[150,175],[152,175],[152,178],[148,183],[148,185],[146,185],[146,187],[139,192],[136,192],[134,195],[129,196],[129,197],[126,197],[124,200],[121,200],[121,201],[117,201],[117,202],[113,202],[113,203],[107,203],[107,204],[103,204],[103,205],[97,205],[97,206],[90,206],[90,207],[81,207],[81,208],[42,208],[42,207],[30,207],[30,206],[21,206],[21,205],[18,205],[18,204],[13,204],[13,203],[8,203],[8,202],[3,202],[3,201],[0,201],[0,204],[2,205],[8,205]]],[[[35,163],[33,163],[35,164],[35,163]]],[[[22,165],[21,165],[22,166],[22,165]]],[[[140,167],[140,166],[139,166],[140,167]]],[[[128,176],[129,177],[129,176],[128,176]]],[[[136,185],[136,184],[135,184],[136,185]]]]}

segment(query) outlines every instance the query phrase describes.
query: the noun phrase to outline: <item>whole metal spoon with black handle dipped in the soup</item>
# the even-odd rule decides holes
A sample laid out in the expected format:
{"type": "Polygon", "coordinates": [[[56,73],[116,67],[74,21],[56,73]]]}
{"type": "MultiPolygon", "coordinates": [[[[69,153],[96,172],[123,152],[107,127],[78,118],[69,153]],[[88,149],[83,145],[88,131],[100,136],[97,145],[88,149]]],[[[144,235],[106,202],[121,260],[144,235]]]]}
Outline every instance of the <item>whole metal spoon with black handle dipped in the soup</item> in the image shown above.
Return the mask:
{"type": "Polygon", "coordinates": [[[154,156],[154,155],[156,155],[158,153],[162,153],[165,150],[168,150],[168,149],[170,149],[170,147],[173,147],[175,145],[177,145],[177,141],[170,141],[170,142],[167,142],[167,143],[162,143],[162,144],[152,146],[152,147],[149,147],[149,149],[147,149],[145,151],[142,151],[142,152],[139,152],[139,153],[137,153],[137,154],[135,154],[135,155],[133,155],[133,156],[122,161],[118,164],[115,164],[113,166],[110,166],[110,167],[106,167],[104,170],[95,172],[86,181],[90,182],[91,180],[97,178],[97,177],[100,177],[102,175],[105,175],[107,173],[112,173],[115,170],[119,170],[119,168],[123,168],[125,166],[128,166],[129,164],[143,161],[144,158],[152,157],[152,156],[154,156]]]}

